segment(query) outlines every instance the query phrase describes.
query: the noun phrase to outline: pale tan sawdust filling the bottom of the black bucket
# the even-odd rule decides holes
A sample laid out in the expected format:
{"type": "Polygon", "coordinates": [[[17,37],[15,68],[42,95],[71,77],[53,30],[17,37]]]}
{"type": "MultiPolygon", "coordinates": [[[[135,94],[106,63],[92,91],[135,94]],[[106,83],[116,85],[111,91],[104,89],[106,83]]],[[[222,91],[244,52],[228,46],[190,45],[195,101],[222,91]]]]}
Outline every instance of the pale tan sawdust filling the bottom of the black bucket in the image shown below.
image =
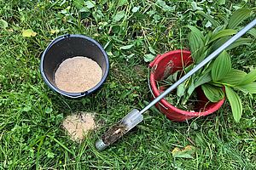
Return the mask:
{"type": "Polygon", "coordinates": [[[57,88],[80,93],[94,88],[102,80],[102,68],[96,61],[83,56],[65,59],[55,71],[57,88]]]}

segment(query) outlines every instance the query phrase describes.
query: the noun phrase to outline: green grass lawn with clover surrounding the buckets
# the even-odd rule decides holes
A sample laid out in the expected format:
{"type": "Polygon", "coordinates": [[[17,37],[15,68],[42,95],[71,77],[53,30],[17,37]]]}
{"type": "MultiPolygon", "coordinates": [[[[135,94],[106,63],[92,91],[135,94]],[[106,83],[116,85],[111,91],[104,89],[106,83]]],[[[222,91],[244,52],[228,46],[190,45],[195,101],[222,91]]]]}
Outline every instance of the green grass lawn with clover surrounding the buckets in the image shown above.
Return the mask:
{"type": "MultiPolygon", "coordinates": [[[[83,2],[0,0],[0,169],[256,167],[255,95],[241,96],[244,111],[239,123],[227,103],[211,116],[188,122],[171,122],[153,109],[108,150],[100,152],[94,146],[113,122],[150,101],[148,62],[144,59],[187,48],[189,29],[184,26],[211,30],[195,9],[216,16],[247,7],[254,11],[253,20],[254,0],[207,0],[197,6],[189,0],[83,2]],[[22,31],[27,29],[37,35],[23,37],[22,31]],[[82,99],[55,94],[44,84],[38,69],[44,48],[53,38],[67,33],[93,37],[108,52],[107,82],[96,94],[82,99]],[[75,111],[96,112],[100,122],[82,144],[74,143],[61,128],[65,116],[75,111]],[[172,156],[173,149],[187,145],[196,148],[193,159],[172,156]]],[[[255,41],[231,54],[233,67],[245,71],[245,66],[255,68],[255,41]]]]}

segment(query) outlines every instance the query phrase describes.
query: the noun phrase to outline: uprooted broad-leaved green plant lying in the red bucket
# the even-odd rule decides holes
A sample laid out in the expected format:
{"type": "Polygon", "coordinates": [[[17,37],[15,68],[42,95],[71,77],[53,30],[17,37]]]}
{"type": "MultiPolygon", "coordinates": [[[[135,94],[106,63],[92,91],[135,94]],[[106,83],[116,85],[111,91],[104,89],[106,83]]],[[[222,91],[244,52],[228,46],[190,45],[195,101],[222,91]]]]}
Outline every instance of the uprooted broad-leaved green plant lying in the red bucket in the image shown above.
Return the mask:
{"type": "MultiPolygon", "coordinates": [[[[201,14],[212,23],[213,31],[204,34],[195,26],[188,26],[190,32],[188,35],[189,49],[194,63],[183,68],[166,78],[169,84],[177,81],[177,76],[185,74],[187,71],[198,65],[203,59],[211,54],[215,49],[220,47],[224,42],[230,39],[240,30],[240,24],[250,16],[251,11],[247,8],[236,10],[228,20],[226,17],[219,17],[224,24],[221,25],[218,20],[214,20],[210,15],[202,11],[195,12],[201,14]]],[[[252,37],[255,31],[249,31],[252,37]]],[[[246,73],[231,67],[231,59],[228,51],[241,45],[248,45],[253,42],[252,38],[241,37],[229,48],[226,48],[218,57],[208,63],[200,71],[197,71],[192,77],[177,87],[177,103],[179,106],[188,105],[191,96],[195,94],[195,88],[202,88],[204,94],[211,102],[218,102],[220,99],[227,97],[230,102],[231,110],[236,122],[239,122],[242,113],[241,99],[236,91],[245,94],[256,94],[256,69],[246,73]],[[181,101],[181,102],[179,102],[181,101]]],[[[168,99],[168,98],[167,98],[168,99]]],[[[173,102],[173,98],[172,101],[173,102]]],[[[183,106],[182,106],[183,107],[183,106]]]]}

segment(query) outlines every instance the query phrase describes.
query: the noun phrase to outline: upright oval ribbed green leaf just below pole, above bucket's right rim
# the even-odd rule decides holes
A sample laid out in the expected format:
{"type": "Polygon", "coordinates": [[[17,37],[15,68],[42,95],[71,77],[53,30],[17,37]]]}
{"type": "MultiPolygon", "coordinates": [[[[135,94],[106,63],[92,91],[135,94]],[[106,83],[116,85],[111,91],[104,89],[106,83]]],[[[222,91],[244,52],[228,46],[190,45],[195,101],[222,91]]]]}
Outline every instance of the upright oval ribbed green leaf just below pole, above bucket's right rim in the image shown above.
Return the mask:
{"type": "Polygon", "coordinates": [[[223,51],[218,55],[217,59],[214,60],[212,65],[212,80],[217,82],[225,77],[231,71],[231,59],[230,55],[223,51]]]}

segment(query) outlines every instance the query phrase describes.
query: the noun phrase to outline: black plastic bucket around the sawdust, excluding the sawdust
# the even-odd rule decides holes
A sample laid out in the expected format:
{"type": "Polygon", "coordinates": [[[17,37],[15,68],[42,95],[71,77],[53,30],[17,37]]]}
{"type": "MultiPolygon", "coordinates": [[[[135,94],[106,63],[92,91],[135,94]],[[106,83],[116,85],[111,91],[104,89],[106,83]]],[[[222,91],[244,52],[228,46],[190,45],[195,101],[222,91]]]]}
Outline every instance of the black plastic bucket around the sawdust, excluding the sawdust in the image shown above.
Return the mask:
{"type": "Polygon", "coordinates": [[[44,82],[55,92],[70,98],[79,98],[96,91],[108,76],[108,55],[102,46],[90,37],[83,35],[64,35],[56,37],[44,50],[40,71],[44,82]],[[75,56],[86,56],[97,62],[102,68],[102,80],[94,88],[81,93],[68,93],[56,87],[55,71],[61,62],[75,56]]]}

